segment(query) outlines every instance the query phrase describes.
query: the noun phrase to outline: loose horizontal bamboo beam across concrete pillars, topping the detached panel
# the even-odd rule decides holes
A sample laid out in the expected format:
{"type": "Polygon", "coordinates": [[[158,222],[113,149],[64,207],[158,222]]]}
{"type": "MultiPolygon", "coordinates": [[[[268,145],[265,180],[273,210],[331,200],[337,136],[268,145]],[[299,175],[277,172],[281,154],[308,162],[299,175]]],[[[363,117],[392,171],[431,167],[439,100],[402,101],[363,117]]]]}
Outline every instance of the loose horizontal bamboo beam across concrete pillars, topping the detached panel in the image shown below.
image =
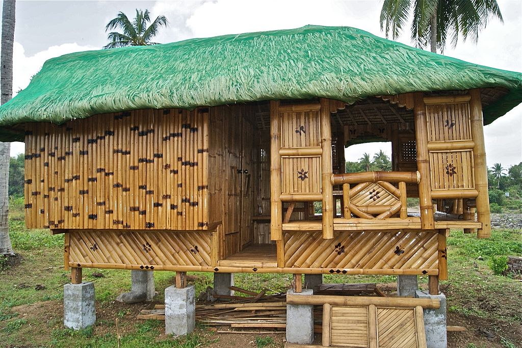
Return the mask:
{"type": "Polygon", "coordinates": [[[330,295],[287,295],[287,304],[290,305],[314,305],[325,303],[332,306],[365,307],[375,305],[377,307],[411,308],[421,306],[423,308],[437,309],[441,307],[438,298],[405,298],[405,297],[374,297],[374,296],[330,296],[330,295]]]}

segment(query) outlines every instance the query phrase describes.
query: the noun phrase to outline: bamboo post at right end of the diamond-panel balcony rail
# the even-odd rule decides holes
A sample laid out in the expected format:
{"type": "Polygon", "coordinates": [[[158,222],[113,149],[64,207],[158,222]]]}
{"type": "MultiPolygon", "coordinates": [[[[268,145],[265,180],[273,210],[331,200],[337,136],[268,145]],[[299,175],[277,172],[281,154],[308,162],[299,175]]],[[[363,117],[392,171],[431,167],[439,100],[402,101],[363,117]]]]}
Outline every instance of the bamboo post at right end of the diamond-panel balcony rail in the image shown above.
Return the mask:
{"type": "Polygon", "coordinates": [[[419,205],[421,228],[434,229],[433,203],[431,200],[430,153],[428,150],[428,124],[422,92],[414,94],[415,143],[417,147],[417,170],[420,172],[419,205]]]}

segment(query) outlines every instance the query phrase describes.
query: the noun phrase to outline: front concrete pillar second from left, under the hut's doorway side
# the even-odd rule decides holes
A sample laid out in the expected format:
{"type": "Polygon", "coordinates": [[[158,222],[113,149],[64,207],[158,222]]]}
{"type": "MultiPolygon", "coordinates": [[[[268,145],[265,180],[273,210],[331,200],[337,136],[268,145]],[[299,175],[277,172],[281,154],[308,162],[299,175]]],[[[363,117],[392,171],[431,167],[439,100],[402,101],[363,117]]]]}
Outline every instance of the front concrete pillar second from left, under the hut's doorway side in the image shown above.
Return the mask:
{"type": "Polygon", "coordinates": [[[196,294],[193,284],[165,289],[165,334],[186,335],[196,327],[196,294]]]}

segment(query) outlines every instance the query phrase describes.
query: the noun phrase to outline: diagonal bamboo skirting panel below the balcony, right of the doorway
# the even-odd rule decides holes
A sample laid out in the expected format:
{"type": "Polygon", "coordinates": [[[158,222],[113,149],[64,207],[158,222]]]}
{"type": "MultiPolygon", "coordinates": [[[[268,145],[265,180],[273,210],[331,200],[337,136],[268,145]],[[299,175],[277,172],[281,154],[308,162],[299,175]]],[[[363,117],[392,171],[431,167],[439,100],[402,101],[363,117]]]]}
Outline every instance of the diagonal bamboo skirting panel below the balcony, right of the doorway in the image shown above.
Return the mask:
{"type": "Polygon", "coordinates": [[[438,236],[435,232],[409,230],[336,231],[323,239],[321,231],[287,231],[284,265],[293,268],[399,270],[419,273],[438,269],[438,236]]]}

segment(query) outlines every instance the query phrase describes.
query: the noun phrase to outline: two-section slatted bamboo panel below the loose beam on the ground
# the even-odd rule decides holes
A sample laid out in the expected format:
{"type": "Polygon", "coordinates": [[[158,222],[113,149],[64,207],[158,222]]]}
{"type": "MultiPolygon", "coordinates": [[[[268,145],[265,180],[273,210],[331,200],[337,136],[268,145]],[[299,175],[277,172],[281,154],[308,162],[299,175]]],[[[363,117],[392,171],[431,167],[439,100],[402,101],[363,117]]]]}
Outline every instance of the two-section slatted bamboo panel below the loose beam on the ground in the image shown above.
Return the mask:
{"type": "Polygon", "coordinates": [[[323,306],[323,346],[425,348],[422,307],[323,306]]]}

